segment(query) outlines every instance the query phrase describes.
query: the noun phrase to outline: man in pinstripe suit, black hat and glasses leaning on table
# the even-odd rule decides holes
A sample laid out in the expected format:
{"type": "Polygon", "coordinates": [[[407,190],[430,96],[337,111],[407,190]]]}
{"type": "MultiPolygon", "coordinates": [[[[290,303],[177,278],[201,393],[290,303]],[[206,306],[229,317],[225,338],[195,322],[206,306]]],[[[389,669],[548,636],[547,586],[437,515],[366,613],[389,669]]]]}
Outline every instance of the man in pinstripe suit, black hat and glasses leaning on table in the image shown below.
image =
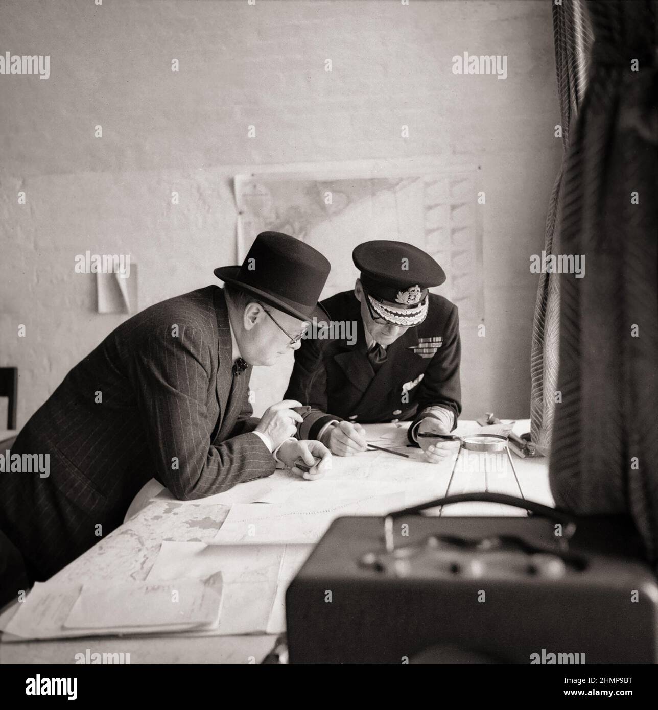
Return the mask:
{"type": "Polygon", "coordinates": [[[50,476],[0,475],[0,530],[28,577],[47,579],[114,530],[155,477],[180,499],[269,476],[277,460],[322,462],[319,442],[292,439],[302,417],[287,400],[251,417],[253,365],[300,346],[329,262],[285,234],[256,237],[227,284],[158,303],[133,316],[67,374],[31,417],[13,453],[48,454],[50,476]]]}

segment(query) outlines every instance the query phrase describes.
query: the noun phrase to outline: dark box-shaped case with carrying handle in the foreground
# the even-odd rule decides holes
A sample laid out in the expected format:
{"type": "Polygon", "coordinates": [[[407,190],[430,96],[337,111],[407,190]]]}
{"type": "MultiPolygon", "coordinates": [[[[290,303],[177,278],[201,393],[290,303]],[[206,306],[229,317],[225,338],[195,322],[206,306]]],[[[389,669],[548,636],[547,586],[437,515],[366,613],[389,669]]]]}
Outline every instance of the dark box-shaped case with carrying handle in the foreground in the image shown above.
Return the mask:
{"type": "Polygon", "coordinates": [[[287,589],[290,662],[654,663],[658,586],[642,554],[627,518],[496,493],[339,518],[287,589]],[[422,514],[461,501],[528,514],[422,514]]]}

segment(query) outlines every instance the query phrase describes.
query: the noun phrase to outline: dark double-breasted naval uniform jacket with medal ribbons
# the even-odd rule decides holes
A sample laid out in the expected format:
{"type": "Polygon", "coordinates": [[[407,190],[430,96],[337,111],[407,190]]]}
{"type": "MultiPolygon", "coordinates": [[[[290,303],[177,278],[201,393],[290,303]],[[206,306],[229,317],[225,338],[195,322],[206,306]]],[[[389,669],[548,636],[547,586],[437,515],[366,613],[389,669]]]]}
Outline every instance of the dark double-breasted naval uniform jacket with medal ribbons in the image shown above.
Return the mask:
{"type": "Polygon", "coordinates": [[[356,322],[356,343],[309,338],[295,352],[285,398],[310,406],[302,413],[301,439],[316,438],[332,419],[415,423],[417,413],[432,405],[452,410],[456,424],[461,413],[461,344],[454,303],[430,293],[427,317],[388,346],[387,359],[376,374],[368,361],[361,305],[354,292],[337,293],[322,306],[331,321],[356,322]]]}

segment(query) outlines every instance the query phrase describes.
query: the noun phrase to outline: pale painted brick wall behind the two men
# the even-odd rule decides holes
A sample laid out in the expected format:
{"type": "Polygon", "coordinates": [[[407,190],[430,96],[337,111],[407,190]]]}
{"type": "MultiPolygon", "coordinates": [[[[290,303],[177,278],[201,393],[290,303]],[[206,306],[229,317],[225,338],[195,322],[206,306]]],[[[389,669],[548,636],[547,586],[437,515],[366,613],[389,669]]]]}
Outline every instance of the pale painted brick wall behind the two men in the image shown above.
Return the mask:
{"type": "Polygon", "coordinates": [[[129,253],[146,307],[234,263],[236,173],[459,155],[486,191],[464,415],[529,415],[528,264],[561,157],[548,2],[4,0],[6,51],[50,55],[48,80],[0,75],[0,365],[20,368],[19,425],[125,318],[97,314],[77,253],[129,253]],[[454,75],[464,51],[508,55],[507,79],[454,75]]]}

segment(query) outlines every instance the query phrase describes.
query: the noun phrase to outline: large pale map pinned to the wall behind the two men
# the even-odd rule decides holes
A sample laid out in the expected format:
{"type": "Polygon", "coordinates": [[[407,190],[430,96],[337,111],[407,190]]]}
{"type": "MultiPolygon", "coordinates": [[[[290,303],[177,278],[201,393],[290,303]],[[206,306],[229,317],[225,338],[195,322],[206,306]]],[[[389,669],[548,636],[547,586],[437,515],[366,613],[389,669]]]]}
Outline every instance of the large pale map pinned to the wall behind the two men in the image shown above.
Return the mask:
{"type": "MultiPolygon", "coordinates": [[[[322,298],[354,287],[352,250],[368,239],[406,241],[431,254],[447,280],[432,289],[459,307],[461,330],[484,320],[482,231],[477,170],[382,177],[261,173],[235,178],[238,263],[261,231],[303,239],[331,262],[322,298]]],[[[254,413],[279,401],[292,355],[273,368],[255,368],[254,413]]]]}

